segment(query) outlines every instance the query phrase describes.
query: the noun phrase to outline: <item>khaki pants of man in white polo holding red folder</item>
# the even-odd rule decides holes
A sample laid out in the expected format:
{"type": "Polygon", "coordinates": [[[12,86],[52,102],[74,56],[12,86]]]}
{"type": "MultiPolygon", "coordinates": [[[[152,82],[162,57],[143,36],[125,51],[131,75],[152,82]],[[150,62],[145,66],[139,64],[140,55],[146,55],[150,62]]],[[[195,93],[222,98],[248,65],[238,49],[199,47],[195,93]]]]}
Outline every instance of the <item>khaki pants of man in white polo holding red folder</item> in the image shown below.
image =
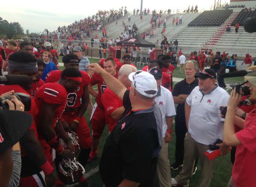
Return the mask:
{"type": "Polygon", "coordinates": [[[180,174],[175,177],[175,180],[178,183],[183,185],[189,184],[189,180],[193,173],[195,159],[197,159],[199,156],[202,171],[197,187],[210,186],[215,160],[209,161],[204,155],[204,152],[208,149],[208,145],[195,142],[189,133],[186,134],[184,139],[183,167],[180,174]]]}

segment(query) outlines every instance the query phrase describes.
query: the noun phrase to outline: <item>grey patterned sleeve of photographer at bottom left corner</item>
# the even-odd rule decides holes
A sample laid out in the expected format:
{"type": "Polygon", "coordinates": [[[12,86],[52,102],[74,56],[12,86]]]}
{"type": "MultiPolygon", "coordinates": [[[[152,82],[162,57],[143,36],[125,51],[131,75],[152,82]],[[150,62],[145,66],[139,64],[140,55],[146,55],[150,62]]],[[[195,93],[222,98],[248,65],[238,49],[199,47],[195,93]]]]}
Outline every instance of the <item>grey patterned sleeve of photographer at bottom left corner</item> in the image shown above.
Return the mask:
{"type": "Polygon", "coordinates": [[[20,183],[21,156],[20,151],[12,151],[13,171],[7,187],[18,187],[20,183]]]}

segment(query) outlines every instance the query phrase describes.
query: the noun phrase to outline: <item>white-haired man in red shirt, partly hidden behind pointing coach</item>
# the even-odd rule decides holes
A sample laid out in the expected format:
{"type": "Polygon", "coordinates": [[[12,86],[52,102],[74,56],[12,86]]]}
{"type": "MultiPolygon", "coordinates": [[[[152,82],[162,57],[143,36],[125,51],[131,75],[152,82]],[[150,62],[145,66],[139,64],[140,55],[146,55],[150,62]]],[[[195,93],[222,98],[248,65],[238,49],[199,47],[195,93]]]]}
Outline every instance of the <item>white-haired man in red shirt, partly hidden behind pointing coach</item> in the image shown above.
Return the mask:
{"type": "MultiPolygon", "coordinates": [[[[118,79],[126,88],[131,87],[131,81],[128,79],[128,76],[135,71],[137,71],[137,68],[132,65],[126,64],[120,68],[118,79]]],[[[102,94],[102,104],[105,108],[106,123],[108,124],[109,132],[112,132],[114,127],[116,127],[116,123],[125,111],[125,108],[123,107],[122,100],[109,88],[106,88],[102,94]]]]}

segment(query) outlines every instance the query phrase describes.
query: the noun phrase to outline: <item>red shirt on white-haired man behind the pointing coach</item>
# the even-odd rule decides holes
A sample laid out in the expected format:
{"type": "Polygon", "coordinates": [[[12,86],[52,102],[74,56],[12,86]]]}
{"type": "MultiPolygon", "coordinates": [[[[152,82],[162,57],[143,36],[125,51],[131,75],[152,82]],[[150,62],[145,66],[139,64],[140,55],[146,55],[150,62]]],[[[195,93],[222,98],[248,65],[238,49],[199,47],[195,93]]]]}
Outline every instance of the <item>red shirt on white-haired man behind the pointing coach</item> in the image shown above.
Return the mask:
{"type": "Polygon", "coordinates": [[[111,113],[117,108],[122,107],[122,100],[116,94],[114,94],[113,91],[111,91],[109,88],[106,88],[102,94],[102,105],[105,108],[106,122],[108,124],[109,131],[112,132],[118,120],[113,119],[111,117],[111,113]]]}

